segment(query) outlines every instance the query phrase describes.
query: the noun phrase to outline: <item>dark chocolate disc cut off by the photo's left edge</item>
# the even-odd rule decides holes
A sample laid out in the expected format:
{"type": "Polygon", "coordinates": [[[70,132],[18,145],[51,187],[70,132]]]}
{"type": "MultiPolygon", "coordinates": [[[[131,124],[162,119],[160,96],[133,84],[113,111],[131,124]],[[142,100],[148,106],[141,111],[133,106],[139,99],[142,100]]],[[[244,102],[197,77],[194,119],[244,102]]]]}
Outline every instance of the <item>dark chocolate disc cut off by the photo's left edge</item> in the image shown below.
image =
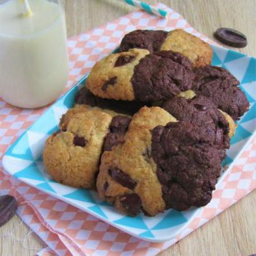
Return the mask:
{"type": "Polygon", "coordinates": [[[13,196],[0,196],[0,227],[12,219],[17,211],[18,203],[13,196]]]}

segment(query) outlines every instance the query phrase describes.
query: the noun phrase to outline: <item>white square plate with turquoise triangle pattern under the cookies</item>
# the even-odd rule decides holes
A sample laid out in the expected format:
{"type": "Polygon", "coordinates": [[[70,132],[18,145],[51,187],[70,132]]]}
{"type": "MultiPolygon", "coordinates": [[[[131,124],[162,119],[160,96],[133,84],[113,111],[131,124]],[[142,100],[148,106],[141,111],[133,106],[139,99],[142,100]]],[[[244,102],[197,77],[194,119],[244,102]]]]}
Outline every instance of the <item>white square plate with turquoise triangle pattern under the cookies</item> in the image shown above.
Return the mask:
{"type": "MultiPolygon", "coordinates": [[[[225,164],[230,165],[256,130],[256,59],[228,49],[216,46],[212,46],[212,48],[214,49],[212,65],[230,70],[241,81],[241,89],[250,101],[250,111],[237,122],[236,134],[232,138],[230,150],[227,152],[225,164]]],[[[31,186],[79,207],[133,236],[153,242],[173,239],[188,225],[188,222],[200,209],[194,207],[185,212],[170,209],[154,218],[142,214],[136,217],[125,216],[116,211],[113,206],[103,202],[95,191],[58,184],[45,173],[42,163],[45,140],[58,129],[61,115],[73,106],[77,90],[85,80],[86,76],[55,102],[28,131],[13,143],[3,158],[4,168],[31,186]]]]}

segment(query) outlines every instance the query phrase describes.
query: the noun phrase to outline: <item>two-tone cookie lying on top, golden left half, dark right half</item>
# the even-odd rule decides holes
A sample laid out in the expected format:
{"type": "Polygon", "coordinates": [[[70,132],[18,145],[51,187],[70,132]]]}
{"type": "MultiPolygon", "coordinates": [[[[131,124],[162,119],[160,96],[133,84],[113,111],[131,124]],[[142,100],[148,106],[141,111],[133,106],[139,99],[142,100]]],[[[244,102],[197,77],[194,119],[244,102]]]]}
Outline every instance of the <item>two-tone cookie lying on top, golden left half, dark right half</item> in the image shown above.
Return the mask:
{"type": "Polygon", "coordinates": [[[147,50],[111,54],[96,63],[86,86],[94,95],[115,100],[154,102],[168,99],[192,86],[191,62],[178,52],[147,50]],[[131,62],[118,65],[119,58],[136,55],[131,62]]]}

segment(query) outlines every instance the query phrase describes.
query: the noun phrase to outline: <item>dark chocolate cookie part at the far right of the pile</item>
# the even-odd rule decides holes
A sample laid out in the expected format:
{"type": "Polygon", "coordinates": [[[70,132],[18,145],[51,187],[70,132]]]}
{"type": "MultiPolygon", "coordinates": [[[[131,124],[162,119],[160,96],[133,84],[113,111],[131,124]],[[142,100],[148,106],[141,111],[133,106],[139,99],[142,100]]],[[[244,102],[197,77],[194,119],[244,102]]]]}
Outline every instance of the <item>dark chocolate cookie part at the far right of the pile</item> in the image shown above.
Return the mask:
{"type": "Polygon", "coordinates": [[[236,77],[225,68],[209,65],[195,69],[193,91],[196,95],[204,95],[211,99],[217,108],[234,120],[239,120],[249,108],[246,95],[238,85],[236,77]]]}

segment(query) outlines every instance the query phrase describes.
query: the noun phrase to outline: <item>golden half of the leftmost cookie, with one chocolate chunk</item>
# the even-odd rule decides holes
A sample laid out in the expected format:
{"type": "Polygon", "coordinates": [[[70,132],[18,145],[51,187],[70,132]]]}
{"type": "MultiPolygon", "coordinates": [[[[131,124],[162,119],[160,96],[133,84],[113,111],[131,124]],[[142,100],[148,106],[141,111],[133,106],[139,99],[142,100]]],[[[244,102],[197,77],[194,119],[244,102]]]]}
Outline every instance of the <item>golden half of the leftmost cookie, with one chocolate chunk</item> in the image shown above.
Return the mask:
{"type": "Polygon", "coordinates": [[[44,164],[52,178],[76,188],[95,188],[104,138],[114,113],[78,106],[61,118],[60,131],[44,148],[44,164]]]}

